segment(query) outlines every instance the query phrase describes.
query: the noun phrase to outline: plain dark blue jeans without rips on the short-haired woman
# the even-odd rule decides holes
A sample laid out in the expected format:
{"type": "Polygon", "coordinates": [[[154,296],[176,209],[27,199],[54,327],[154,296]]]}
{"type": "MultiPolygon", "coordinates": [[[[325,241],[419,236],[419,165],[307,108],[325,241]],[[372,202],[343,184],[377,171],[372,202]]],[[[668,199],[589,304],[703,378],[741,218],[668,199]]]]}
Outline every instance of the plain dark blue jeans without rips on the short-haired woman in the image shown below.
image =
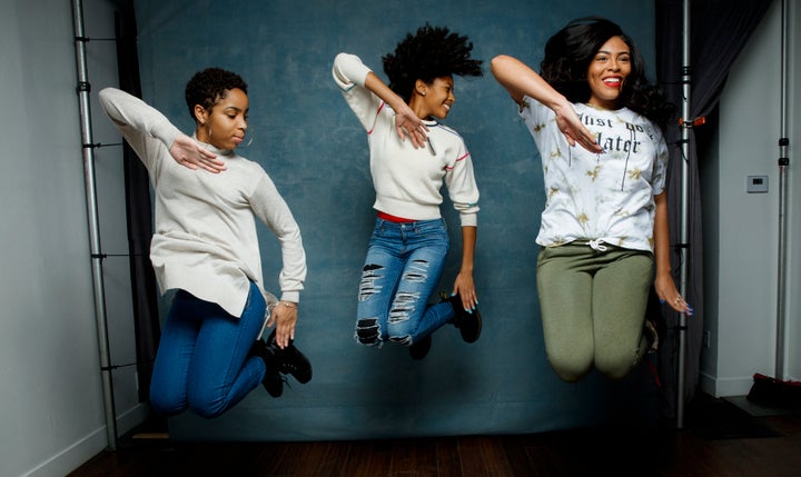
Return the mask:
{"type": "Polygon", "coordinates": [[[156,352],[150,405],[162,416],[190,409],[212,418],[239,403],[265,376],[248,351],[261,331],[266,302],[255,284],[243,316],[191,294],[176,292],[156,352]]]}

